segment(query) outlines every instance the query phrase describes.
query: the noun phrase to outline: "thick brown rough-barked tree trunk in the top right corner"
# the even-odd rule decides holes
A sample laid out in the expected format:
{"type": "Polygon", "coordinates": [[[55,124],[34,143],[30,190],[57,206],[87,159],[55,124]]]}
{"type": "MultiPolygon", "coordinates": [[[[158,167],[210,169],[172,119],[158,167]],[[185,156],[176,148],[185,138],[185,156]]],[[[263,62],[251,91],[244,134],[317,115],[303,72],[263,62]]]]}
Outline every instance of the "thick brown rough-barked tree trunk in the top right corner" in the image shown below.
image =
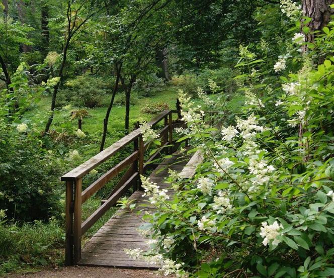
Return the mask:
{"type": "Polygon", "coordinates": [[[302,0],[303,16],[311,18],[311,22],[307,24],[310,32],[306,34],[306,41],[314,40],[314,31],[321,30],[330,21],[330,15],[334,9],[329,5],[334,4],[334,0],[302,0]]]}

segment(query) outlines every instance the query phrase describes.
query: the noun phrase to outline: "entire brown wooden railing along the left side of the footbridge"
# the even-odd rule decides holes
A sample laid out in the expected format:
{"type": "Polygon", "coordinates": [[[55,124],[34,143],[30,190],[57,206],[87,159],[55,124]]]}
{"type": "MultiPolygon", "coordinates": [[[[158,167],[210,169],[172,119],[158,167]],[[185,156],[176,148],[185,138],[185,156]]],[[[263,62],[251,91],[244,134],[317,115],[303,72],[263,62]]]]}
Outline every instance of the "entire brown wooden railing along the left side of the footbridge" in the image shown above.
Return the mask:
{"type": "MultiPolygon", "coordinates": [[[[179,144],[173,141],[173,129],[176,126],[183,125],[182,122],[173,123],[173,113],[180,114],[178,110],[166,110],[157,115],[154,119],[148,122],[148,125],[154,127],[163,120],[163,128],[159,133],[161,139],[161,147],[165,147],[165,154],[173,153],[179,144]],[[170,145],[169,147],[166,147],[170,145]]],[[[151,167],[151,162],[157,159],[160,152],[155,152],[146,162],[144,161],[144,153],[148,148],[148,143],[143,142],[140,128],[134,130],[130,134],[123,137],[121,140],[112,144],[104,151],[95,155],[85,163],[82,163],[75,169],[66,173],[61,177],[62,181],[66,182],[66,204],[65,204],[65,263],[66,265],[76,264],[81,258],[81,236],[84,235],[89,228],[101,216],[106,213],[113,205],[117,203],[119,198],[133,186],[134,190],[140,189],[140,174],[151,167]],[[104,173],[100,178],[94,181],[87,189],[82,191],[82,178],[91,170],[96,168],[102,162],[108,160],[125,146],[133,143],[134,150],[125,159],[104,173]],[[116,184],[107,200],[104,200],[102,205],[84,222],[81,221],[81,205],[92,197],[98,190],[103,188],[105,184],[126,167],[122,178],[116,184]]]]}

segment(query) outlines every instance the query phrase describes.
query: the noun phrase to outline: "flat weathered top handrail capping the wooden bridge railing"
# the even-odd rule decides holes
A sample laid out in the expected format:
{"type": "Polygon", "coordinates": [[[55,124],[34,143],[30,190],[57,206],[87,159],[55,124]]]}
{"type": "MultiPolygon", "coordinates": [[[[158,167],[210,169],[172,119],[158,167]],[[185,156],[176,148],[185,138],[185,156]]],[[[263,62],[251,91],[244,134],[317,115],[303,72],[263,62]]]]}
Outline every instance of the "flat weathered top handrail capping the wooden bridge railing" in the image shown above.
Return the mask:
{"type": "MultiPolygon", "coordinates": [[[[147,124],[150,126],[154,126],[158,122],[160,122],[166,115],[171,113],[170,110],[165,110],[158,114],[155,118],[149,121],[147,124]]],[[[116,143],[112,144],[110,147],[106,148],[102,152],[98,153],[97,155],[93,156],[91,159],[87,160],[86,162],[82,163],[81,165],[77,166],[73,170],[69,171],[65,175],[61,177],[61,180],[73,180],[75,178],[79,178],[84,176],[85,174],[89,173],[92,169],[96,168],[102,162],[109,159],[112,155],[116,152],[127,146],[133,140],[139,137],[141,134],[141,129],[136,129],[129,133],[128,135],[124,136],[121,140],[117,141],[116,143]]]]}

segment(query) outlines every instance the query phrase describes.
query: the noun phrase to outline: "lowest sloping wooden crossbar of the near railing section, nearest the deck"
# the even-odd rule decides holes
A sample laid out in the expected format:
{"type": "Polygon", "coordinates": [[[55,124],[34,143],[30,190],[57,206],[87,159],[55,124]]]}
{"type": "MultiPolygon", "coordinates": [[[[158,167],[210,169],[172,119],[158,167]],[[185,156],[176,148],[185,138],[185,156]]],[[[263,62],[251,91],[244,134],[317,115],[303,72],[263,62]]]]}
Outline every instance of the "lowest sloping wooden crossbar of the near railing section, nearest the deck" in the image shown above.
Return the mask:
{"type": "Polygon", "coordinates": [[[134,173],[128,181],[126,181],[122,187],[119,188],[99,209],[97,209],[89,218],[82,223],[82,234],[86,233],[96,221],[100,219],[113,205],[116,204],[117,200],[129,189],[131,182],[134,178],[137,178],[138,173],[134,173]]]}

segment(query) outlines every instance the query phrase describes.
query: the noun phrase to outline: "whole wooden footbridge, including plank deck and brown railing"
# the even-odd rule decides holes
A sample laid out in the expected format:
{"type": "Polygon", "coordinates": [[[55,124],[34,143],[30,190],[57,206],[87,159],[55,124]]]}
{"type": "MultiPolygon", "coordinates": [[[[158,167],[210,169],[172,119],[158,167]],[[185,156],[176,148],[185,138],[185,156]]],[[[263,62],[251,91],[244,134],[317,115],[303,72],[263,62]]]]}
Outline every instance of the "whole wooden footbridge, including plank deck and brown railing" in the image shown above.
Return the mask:
{"type": "Polygon", "coordinates": [[[124,248],[147,248],[145,243],[147,239],[144,239],[137,232],[137,228],[143,223],[140,215],[129,214],[120,209],[90,239],[82,251],[81,237],[102,215],[112,206],[115,206],[117,201],[127,193],[131,187],[134,193],[130,198],[136,200],[139,205],[139,210],[142,210],[142,213],[144,213],[145,211],[153,209],[149,206],[149,203],[146,202],[145,198],[142,197],[139,175],[144,174],[148,169],[156,167],[150,175],[150,178],[152,181],[157,182],[160,188],[165,188],[167,184],[165,184],[163,180],[164,177],[167,176],[167,168],[181,171],[186,165],[187,161],[180,159],[180,155],[176,152],[181,143],[177,143],[177,140],[173,138],[174,128],[184,125],[179,118],[179,110],[168,110],[163,111],[148,122],[148,125],[155,128],[159,123],[160,125],[162,123],[159,138],[162,141],[161,148],[164,148],[160,152],[155,152],[153,155],[146,158],[146,160],[144,157],[148,156],[147,153],[145,153],[145,151],[148,152],[148,143],[143,142],[141,130],[138,128],[61,177],[61,180],[66,182],[66,265],[83,264],[117,267],[152,267],[152,265],[148,265],[143,261],[130,259],[124,252],[124,248]],[[175,113],[178,113],[179,117],[178,120],[173,121],[173,114],[175,113]],[[82,178],[129,144],[133,144],[133,152],[82,191],[82,178]],[[159,165],[154,164],[154,161],[161,156],[161,153],[174,155],[162,160],[159,165]],[[82,204],[98,190],[103,188],[111,178],[115,177],[123,170],[125,170],[124,175],[116,184],[108,199],[104,200],[102,205],[90,217],[82,220],[82,204]]]}

